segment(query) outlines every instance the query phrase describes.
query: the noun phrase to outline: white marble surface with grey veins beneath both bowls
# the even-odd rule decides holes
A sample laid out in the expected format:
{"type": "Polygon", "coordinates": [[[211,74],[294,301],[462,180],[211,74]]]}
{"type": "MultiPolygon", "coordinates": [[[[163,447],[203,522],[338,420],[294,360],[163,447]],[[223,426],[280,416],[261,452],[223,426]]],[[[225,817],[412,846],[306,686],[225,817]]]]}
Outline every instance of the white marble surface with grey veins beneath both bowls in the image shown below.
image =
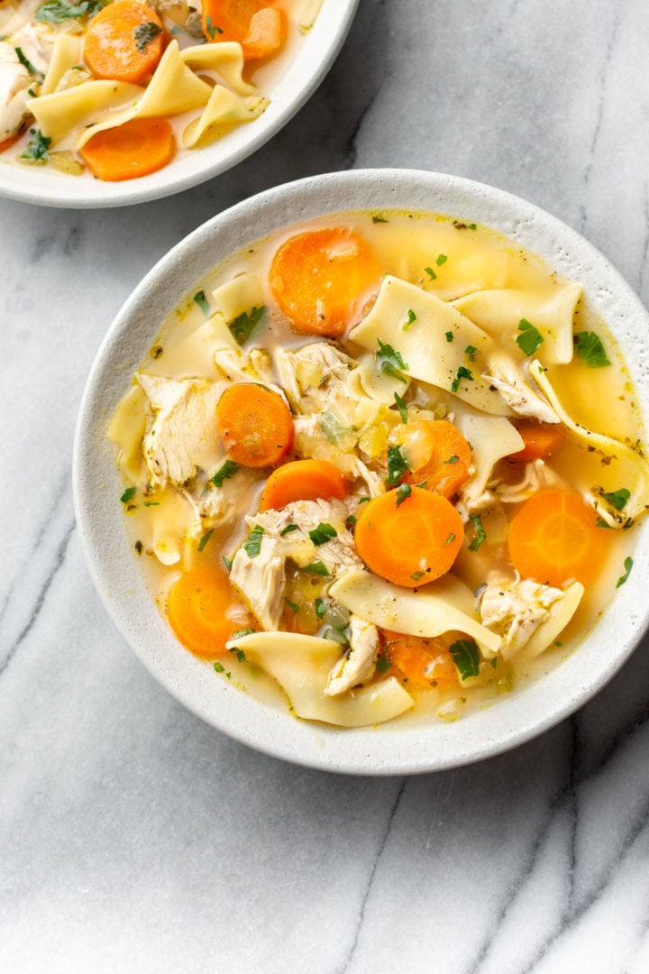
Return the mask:
{"type": "Polygon", "coordinates": [[[649,298],[646,0],[361,0],[258,156],[98,213],[0,201],[0,970],[649,971],[649,641],[482,765],[351,778],[201,724],[106,618],[71,503],[84,380],[126,295],[214,212],[395,165],[518,193],[649,298]]]}

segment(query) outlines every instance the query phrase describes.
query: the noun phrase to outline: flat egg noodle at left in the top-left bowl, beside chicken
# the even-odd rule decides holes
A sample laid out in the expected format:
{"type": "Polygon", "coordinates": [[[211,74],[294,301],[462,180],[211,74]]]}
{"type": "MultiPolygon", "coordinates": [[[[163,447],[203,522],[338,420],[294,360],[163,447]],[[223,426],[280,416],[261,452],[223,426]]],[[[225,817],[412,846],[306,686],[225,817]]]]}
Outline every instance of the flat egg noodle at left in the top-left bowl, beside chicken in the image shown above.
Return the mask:
{"type": "MultiPolygon", "coordinates": [[[[122,81],[86,81],[83,85],[68,88],[64,92],[32,98],[29,108],[39,129],[52,139],[55,146],[71,132],[82,130],[88,133],[90,129],[85,127],[96,120],[97,115],[104,116],[104,128],[120,125],[121,121],[112,121],[113,118],[124,118],[125,112],[119,109],[136,102],[143,93],[143,88],[126,85],[122,81]]],[[[132,113],[128,117],[132,117],[132,113]]],[[[91,126],[91,129],[95,128],[91,126]]],[[[82,135],[80,144],[85,141],[86,137],[82,135]]]]}

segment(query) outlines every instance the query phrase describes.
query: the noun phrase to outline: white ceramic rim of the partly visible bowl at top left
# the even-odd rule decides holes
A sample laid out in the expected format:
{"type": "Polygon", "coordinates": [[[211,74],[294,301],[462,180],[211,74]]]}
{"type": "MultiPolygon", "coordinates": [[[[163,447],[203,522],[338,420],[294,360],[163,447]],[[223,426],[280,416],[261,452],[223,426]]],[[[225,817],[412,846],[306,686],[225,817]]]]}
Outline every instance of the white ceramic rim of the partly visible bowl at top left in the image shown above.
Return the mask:
{"type": "Polygon", "coordinates": [[[231,169],[268,142],[313,94],[338,55],[357,6],[358,0],[323,0],[288,69],[265,86],[262,94],[270,105],[264,114],[212,145],[182,153],[149,176],[116,183],[20,166],[3,159],[9,150],[0,155],[0,196],[40,206],[128,206],[171,196],[231,169]]]}

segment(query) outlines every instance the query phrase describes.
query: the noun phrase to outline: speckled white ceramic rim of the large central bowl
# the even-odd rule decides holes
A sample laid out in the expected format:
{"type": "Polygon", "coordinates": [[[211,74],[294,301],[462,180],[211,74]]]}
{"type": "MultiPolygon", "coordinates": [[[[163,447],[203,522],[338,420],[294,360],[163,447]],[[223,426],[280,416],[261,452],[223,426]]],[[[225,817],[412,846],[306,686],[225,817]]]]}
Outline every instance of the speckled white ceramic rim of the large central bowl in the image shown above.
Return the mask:
{"type": "Polygon", "coordinates": [[[340,731],[297,721],[258,702],[183,650],[145,588],[126,540],[121,481],[107,418],[162,320],[198,281],[244,244],[287,224],[345,209],[414,208],[496,228],[581,281],[626,353],[649,416],[649,316],[595,248],[555,217],[500,190],[431,172],[367,169],[315,176],[262,193],[214,217],[177,244],[126,302],[95,359],[75,444],[79,530],[97,590],[126,642],[169,693],[207,723],[302,765],[363,774],[415,773],[468,764],[546,731],[592,697],[630,656],[649,622],[649,519],[639,526],[629,581],[578,650],[549,675],[454,724],[395,722],[340,731]]]}

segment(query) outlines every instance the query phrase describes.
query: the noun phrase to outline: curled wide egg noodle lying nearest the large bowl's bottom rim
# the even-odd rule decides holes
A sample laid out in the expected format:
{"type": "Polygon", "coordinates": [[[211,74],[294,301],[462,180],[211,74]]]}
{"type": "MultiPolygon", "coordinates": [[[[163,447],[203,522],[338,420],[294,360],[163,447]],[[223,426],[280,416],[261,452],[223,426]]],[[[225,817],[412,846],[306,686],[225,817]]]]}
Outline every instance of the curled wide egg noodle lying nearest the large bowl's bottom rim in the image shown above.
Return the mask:
{"type": "Polygon", "coordinates": [[[384,724],[410,709],[414,700],[390,677],[338,697],[324,693],[341,647],[299,632],[256,632],[226,644],[259,660],[289,698],[298,717],[354,728],[384,724]]]}

